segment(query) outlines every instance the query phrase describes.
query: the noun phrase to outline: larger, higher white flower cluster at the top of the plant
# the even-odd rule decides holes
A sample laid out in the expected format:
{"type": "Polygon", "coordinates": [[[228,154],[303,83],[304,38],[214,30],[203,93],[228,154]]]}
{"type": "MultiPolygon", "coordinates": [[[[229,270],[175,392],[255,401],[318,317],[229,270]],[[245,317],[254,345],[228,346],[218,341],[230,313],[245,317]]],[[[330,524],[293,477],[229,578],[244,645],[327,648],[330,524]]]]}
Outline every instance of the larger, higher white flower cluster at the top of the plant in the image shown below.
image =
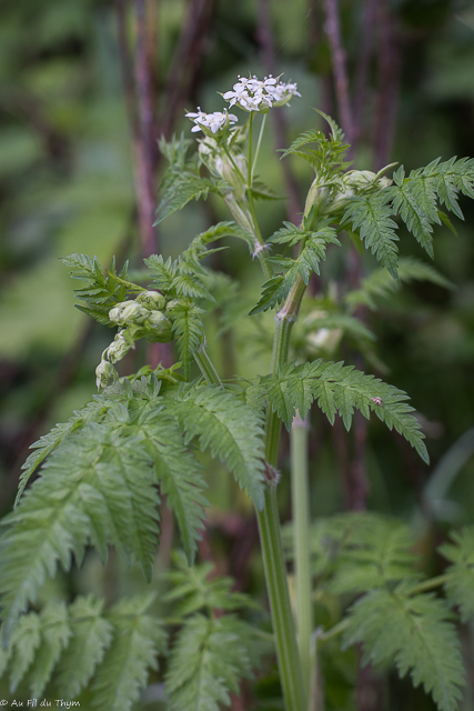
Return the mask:
{"type": "Polygon", "coordinates": [[[292,97],[301,97],[295,83],[284,83],[274,77],[265,77],[263,81],[253,77],[239,77],[233,91],[223,94],[229,107],[238,106],[245,111],[268,111],[272,107],[288,103],[292,97]]]}

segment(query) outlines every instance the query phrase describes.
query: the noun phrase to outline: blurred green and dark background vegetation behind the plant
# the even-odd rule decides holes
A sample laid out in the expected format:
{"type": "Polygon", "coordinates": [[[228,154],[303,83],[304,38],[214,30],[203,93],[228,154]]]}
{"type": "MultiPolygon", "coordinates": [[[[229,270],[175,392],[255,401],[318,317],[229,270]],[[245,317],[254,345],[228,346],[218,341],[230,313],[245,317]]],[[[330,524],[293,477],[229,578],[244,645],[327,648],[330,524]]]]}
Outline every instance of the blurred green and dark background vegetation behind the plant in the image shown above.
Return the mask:
{"type": "MultiPolygon", "coordinates": [[[[289,161],[284,174],[275,148],[321,126],[313,108],[344,123],[333,79],[334,47],[326,18],[331,4],[149,0],[157,187],[164,161],[155,141],[162,132],[168,138],[189,134],[184,109],[220,110],[223,101],[216,92],[231,89],[239,73],[284,72],[284,80],[297,82],[302,98],[293,99],[290,109],[279,109],[276,121],[272,114],[259,172],[276,191],[290,190],[292,199],[259,203],[263,234],[269,237],[282,219],[301,210],[311,176],[297,161],[289,161]]],[[[133,74],[133,3],[120,0],[3,0],[0,9],[1,513],[12,505],[29,444],[94,392],[94,368],[111,340],[107,329],[89,323],[73,308],[77,284],[59,258],[77,251],[97,254],[103,266],[112,254],[119,263],[130,259],[132,269],[142,263],[137,140],[133,143],[130,126],[138,103],[132,93],[127,104],[123,82],[125,47],[125,74],[133,74]]],[[[339,12],[356,167],[379,169],[396,160],[410,170],[438,156],[474,156],[472,2],[340,0],[339,12]]],[[[453,289],[413,282],[381,299],[367,317],[379,339],[380,363],[375,371],[373,363],[365,368],[410,393],[432,458],[426,467],[396,435],[371,425],[367,505],[414,522],[424,534],[420,545],[433,573],[440,564],[434,545],[446,528],[474,520],[474,208],[465,200],[462,209],[466,219],[456,221],[457,237],[446,228],[436,228],[435,234],[435,264],[453,289]],[[426,502],[431,528],[421,523],[426,502]]],[[[192,203],[160,224],[157,249],[175,257],[219,219],[229,217],[211,199],[192,203]]],[[[400,249],[403,256],[427,259],[403,233],[400,249]]],[[[315,287],[320,294],[344,292],[349,247],[344,256],[345,261],[329,259],[315,287]]],[[[246,249],[239,246],[215,260],[221,271],[243,280],[245,313],[260,293],[256,266],[249,268],[246,249]]],[[[366,256],[362,276],[373,266],[366,256]]],[[[218,329],[214,314],[208,329],[213,357],[226,374],[266,372],[268,339],[261,331],[236,319],[232,334],[218,341],[212,339],[218,329]]],[[[143,364],[147,357],[137,352],[123,372],[143,364]]],[[[356,354],[343,343],[332,357],[351,361],[356,354]]],[[[314,515],[344,509],[344,458],[352,457],[353,448],[352,435],[345,438],[337,428],[331,431],[321,418],[312,423],[314,515]]],[[[288,445],[283,467],[286,450],[288,445]]],[[[281,493],[285,513],[284,480],[281,493]]],[[[215,512],[230,509],[233,497],[233,490],[222,485],[211,493],[216,520],[215,512]]],[[[219,530],[214,533],[210,554],[229,570],[229,551],[219,542],[219,530]]],[[[401,689],[391,709],[431,708],[424,698],[410,697],[405,685],[401,689]]],[[[465,709],[474,708],[473,697],[471,681],[465,709]]]]}

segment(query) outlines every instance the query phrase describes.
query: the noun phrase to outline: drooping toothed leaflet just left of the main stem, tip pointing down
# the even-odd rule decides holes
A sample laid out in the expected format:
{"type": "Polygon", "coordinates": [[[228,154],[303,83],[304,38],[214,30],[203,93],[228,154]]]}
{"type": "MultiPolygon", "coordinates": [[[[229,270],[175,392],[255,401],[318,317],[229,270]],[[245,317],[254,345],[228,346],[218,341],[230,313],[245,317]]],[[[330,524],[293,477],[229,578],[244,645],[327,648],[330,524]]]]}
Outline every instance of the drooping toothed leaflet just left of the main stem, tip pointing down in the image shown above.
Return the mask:
{"type": "Polygon", "coordinates": [[[173,405],[185,441],[198,437],[234,474],[258,508],[263,505],[261,418],[233,394],[215,387],[182,390],[173,405]]]}

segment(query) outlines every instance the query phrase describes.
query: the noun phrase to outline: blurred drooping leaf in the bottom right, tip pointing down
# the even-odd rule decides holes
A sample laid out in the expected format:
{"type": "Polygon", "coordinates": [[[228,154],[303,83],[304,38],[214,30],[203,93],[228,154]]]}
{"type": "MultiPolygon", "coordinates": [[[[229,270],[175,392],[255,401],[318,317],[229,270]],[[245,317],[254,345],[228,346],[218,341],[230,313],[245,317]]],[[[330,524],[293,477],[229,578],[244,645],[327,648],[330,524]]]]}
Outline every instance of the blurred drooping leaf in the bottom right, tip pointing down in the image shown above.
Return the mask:
{"type": "Polygon", "coordinates": [[[410,597],[403,583],[394,592],[373,590],[350,609],[344,643],[363,643],[364,662],[394,662],[423,684],[440,711],[454,711],[464,685],[460,643],[445,603],[432,594],[410,597]]]}

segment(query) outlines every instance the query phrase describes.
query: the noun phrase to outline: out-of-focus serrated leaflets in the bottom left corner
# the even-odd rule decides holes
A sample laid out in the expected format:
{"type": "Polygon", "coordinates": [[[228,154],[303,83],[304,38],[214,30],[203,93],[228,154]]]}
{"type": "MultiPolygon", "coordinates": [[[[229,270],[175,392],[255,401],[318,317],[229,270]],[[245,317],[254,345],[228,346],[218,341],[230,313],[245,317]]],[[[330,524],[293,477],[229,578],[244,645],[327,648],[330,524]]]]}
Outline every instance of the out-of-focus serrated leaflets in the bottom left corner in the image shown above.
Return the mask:
{"type": "Polygon", "coordinates": [[[50,602],[40,614],[29,612],[4,653],[11,692],[28,674],[34,698],[50,680],[67,699],[90,684],[94,708],[129,711],[165,651],[162,623],[149,612],[153,599],[125,599],[104,612],[102,600],[79,597],[69,608],[50,602]]]}

